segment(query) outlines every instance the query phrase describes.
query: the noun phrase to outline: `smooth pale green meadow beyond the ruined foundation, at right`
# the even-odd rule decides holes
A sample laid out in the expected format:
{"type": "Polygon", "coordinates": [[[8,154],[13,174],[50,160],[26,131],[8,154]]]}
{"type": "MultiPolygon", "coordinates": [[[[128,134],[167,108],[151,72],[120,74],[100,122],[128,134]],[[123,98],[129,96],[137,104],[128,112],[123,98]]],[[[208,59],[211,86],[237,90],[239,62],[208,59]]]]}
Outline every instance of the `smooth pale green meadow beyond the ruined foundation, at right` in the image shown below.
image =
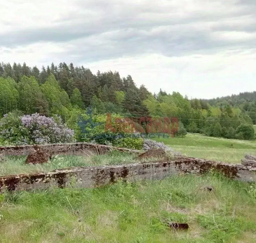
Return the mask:
{"type": "Polygon", "coordinates": [[[256,140],[213,138],[200,134],[187,134],[184,138],[157,138],[182,154],[228,163],[240,163],[245,153],[256,155],[256,140]]]}

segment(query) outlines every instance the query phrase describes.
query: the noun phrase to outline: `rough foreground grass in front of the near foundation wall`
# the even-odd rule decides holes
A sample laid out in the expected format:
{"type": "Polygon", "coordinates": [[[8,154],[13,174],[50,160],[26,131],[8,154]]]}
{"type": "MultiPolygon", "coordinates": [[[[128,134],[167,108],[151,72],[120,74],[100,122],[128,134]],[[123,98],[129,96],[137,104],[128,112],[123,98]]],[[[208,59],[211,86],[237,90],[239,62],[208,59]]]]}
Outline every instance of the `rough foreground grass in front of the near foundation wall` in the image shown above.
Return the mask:
{"type": "Polygon", "coordinates": [[[216,174],[0,195],[1,242],[255,242],[256,197],[216,174]],[[213,191],[204,189],[212,186],[213,191]],[[164,220],[188,222],[173,231],[164,220]],[[245,241],[246,240],[246,241],[245,241]]]}

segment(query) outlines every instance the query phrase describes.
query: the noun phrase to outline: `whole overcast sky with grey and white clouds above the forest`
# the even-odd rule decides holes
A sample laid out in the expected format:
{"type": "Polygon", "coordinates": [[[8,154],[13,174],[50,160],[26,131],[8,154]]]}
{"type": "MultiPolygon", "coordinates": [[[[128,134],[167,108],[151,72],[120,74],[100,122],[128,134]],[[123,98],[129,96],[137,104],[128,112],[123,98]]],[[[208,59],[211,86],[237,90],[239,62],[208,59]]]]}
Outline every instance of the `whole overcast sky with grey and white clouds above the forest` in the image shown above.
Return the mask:
{"type": "Polygon", "coordinates": [[[0,61],[73,62],[211,98],[256,90],[255,0],[9,0],[0,61]]]}

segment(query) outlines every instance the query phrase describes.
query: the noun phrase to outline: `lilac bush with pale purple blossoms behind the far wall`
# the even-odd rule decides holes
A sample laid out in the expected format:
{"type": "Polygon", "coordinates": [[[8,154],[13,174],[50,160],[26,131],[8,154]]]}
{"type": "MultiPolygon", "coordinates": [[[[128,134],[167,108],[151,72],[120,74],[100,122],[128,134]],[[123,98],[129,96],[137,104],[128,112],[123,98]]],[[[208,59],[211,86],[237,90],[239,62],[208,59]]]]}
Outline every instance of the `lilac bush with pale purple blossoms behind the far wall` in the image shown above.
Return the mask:
{"type": "Polygon", "coordinates": [[[5,115],[0,121],[2,143],[12,145],[66,143],[74,139],[74,131],[59,116],[5,115]]]}

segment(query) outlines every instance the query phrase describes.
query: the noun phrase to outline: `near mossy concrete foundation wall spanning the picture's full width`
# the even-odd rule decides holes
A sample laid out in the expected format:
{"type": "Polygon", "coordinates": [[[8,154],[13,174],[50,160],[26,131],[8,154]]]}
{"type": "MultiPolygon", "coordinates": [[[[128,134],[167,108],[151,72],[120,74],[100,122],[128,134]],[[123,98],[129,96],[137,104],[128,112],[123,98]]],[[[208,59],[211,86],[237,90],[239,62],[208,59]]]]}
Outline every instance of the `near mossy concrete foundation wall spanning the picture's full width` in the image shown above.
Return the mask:
{"type": "Polygon", "coordinates": [[[77,188],[93,188],[114,183],[119,178],[136,182],[144,179],[163,179],[170,175],[203,174],[211,169],[223,172],[235,180],[256,182],[255,172],[248,170],[246,166],[186,158],[177,161],[75,167],[45,173],[2,176],[0,190],[47,189],[51,186],[64,188],[71,184],[77,188]]]}

